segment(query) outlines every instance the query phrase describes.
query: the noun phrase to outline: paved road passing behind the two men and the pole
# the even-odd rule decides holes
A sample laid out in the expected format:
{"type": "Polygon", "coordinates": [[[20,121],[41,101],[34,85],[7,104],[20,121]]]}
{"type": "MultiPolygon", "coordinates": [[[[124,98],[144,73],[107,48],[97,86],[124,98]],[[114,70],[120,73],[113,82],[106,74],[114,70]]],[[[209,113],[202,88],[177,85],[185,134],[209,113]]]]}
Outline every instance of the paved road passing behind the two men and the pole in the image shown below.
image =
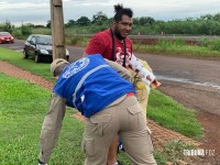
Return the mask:
{"type": "MultiPolygon", "coordinates": [[[[22,52],[24,41],[1,44],[22,52]]],[[[80,58],[84,47],[67,46],[70,61],[80,58]]],[[[220,61],[189,59],[163,55],[136,54],[152,66],[160,90],[178,102],[197,110],[220,116],[220,61]]]]}

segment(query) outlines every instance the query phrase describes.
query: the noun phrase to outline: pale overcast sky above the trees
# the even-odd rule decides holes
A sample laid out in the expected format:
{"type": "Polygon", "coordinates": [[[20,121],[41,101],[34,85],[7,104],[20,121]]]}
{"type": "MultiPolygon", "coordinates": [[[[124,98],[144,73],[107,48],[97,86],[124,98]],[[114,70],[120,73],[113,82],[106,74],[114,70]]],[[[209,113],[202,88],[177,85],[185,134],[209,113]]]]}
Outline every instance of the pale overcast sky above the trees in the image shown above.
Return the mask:
{"type": "MultiPolygon", "coordinates": [[[[88,16],[90,20],[99,11],[113,16],[113,4],[123,3],[131,8],[134,18],[152,16],[155,20],[199,18],[220,13],[219,0],[63,0],[64,21],[88,16]]],[[[45,24],[51,20],[50,0],[1,0],[0,23],[45,24]]]]}

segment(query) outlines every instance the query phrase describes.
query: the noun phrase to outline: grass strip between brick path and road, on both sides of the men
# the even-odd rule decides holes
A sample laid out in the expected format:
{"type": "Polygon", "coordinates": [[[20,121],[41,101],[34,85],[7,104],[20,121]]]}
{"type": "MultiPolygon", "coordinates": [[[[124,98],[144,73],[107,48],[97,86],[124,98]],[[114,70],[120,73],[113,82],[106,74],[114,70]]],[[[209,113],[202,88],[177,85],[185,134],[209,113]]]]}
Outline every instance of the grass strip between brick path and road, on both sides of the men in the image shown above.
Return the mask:
{"type": "MultiPolygon", "coordinates": [[[[14,64],[45,78],[52,78],[50,64],[36,64],[32,59],[23,59],[22,54],[6,48],[0,48],[0,59],[14,64]]],[[[161,125],[175,130],[184,135],[198,140],[202,134],[195,111],[184,108],[158,90],[152,90],[148,102],[148,118],[161,125]]]]}

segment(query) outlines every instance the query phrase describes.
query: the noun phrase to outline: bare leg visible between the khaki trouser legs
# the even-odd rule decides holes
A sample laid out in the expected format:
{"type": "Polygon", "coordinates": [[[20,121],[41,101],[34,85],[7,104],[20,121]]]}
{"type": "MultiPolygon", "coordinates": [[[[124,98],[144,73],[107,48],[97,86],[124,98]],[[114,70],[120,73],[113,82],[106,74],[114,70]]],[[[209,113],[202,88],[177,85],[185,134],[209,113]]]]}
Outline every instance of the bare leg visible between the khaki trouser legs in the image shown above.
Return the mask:
{"type": "Polygon", "coordinates": [[[117,134],[109,147],[107,165],[114,165],[117,163],[119,135],[117,134]]]}

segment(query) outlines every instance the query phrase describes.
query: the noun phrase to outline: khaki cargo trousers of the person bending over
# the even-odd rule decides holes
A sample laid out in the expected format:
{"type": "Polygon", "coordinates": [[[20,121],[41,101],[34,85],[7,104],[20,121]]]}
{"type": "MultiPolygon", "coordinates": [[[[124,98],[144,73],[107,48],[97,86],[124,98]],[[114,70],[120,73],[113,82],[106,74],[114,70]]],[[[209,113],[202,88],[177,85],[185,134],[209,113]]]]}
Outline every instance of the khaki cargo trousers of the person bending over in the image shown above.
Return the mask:
{"type": "Polygon", "coordinates": [[[131,165],[156,164],[142,108],[136,98],[130,96],[86,119],[81,143],[85,165],[106,165],[116,134],[121,136],[131,165]]]}

